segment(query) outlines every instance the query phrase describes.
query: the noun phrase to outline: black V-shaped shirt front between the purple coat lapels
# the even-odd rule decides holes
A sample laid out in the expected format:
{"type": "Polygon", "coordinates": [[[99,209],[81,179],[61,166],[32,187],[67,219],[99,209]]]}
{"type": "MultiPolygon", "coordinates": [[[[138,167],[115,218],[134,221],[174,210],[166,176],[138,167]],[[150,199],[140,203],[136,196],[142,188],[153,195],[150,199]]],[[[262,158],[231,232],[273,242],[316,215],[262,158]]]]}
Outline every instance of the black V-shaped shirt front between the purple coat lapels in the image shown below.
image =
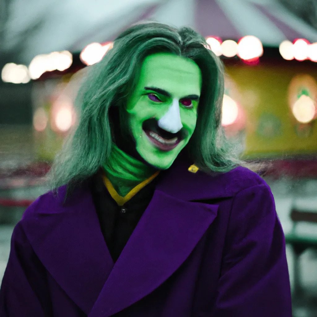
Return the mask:
{"type": "Polygon", "coordinates": [[[138,224],[143,212],[150,203],[159,176],[143,187],[122,207],[109,194],[102,171],[92,178],[92,196],[100,222],[101,232],[113,262],[116,262],[138,224]]]}

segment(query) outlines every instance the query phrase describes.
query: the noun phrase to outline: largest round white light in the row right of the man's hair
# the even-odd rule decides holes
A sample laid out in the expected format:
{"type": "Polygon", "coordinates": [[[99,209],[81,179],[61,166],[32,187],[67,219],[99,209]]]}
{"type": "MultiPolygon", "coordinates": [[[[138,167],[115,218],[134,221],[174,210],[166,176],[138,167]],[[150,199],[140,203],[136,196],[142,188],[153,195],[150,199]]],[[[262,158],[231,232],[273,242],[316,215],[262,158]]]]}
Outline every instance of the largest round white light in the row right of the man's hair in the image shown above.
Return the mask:
{"type": "Polygon", "coordinates": [[[238,43],[238,55],[246,61],[262,56],[262,42],[256,36],[244,36],[238,43]]]}

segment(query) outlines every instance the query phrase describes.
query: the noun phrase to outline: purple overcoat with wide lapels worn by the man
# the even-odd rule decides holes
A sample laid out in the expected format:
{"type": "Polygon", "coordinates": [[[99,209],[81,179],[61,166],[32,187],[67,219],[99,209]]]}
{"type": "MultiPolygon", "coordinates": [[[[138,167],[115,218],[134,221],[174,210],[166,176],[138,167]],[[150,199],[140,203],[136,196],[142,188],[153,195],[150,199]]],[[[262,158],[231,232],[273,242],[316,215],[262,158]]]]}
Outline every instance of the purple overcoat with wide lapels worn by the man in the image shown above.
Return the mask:
{"type": "Polygon", "coordinates": [[[173,164],[119,259],[89,186],[39,197],[16,225],[1,317],[291,317],[285,241],[268,185],[173,164]],[[197,202],[210,200],[209,204],[197,202]]]}

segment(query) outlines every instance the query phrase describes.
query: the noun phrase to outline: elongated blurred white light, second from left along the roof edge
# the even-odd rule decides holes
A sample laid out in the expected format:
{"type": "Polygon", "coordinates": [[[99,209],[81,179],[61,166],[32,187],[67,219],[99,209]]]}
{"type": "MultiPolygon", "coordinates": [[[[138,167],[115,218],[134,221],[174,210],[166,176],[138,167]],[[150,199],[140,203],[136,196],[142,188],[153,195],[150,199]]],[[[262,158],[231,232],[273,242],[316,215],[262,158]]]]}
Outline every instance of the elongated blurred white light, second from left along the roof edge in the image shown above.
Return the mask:
{"type": "Polygon", "coordinates": [[[54,70],[64,71],[73,63],[73,55],[68,51],[40,54],[33,58],[29,65],[29,74],[32,79],[38,79],[45,72],[54,70]]]}

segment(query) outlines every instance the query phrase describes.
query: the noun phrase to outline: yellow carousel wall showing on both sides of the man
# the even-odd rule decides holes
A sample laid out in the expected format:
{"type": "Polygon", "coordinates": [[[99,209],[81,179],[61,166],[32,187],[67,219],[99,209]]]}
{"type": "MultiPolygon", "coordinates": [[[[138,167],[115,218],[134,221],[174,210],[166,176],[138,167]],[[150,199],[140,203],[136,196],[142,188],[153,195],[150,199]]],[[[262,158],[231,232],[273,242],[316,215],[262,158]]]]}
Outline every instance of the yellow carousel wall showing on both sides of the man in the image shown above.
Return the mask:
{"type": "MultiPolygon", "coordinates": [[[[317,154],[317,127],[314,122],[299,125],[288,105],[288,88],[294,76],[309,74],[317,80],[317,63],[283,62],[274,65],[267,62],[256,66],[239,63],[227,65],[226,73],[230,77],[227,90],[243,108],[246,117],[242,133],[246,142],[245,158],[317,154]],[[298,126],[308,133],[296,133],[298,126]]],[[[45,94],[41,92],[36,97],[36,107],[44,107],[48,117],[51,108],[49,96],[56,93],[55,90],[45,94]],[[41,95],[43,98],[39,98],[41,95]]],[[[36,156],[39,159],[53,159],[62,141],[63,136],[53,132],[48,124],[45,131],[35,132],[36,156]]]]}

